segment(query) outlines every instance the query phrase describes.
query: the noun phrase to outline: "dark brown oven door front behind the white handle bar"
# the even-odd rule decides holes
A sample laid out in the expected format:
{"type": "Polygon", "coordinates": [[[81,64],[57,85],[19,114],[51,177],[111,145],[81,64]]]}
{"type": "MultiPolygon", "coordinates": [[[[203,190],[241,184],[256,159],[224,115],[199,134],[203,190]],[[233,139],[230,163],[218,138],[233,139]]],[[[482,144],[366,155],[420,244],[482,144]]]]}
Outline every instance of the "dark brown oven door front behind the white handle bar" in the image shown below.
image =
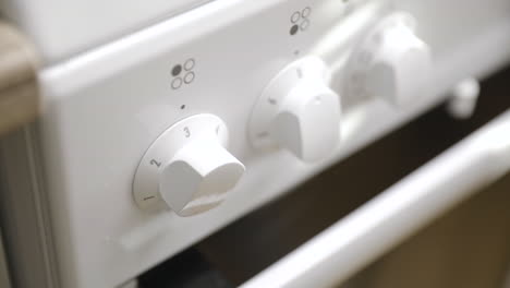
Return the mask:
{"type": "MultiPolygon", "coordinates": [[[[510,107],[509,82],[510,69],[483,81],[471,119],[452,119],[445,105],[436,107],[142,275],[141,287],[235,287],[246,281],[503,112],[510,107]]],[[[338,287],[510,287],[509,203],[507,176],[338,287]]]]}

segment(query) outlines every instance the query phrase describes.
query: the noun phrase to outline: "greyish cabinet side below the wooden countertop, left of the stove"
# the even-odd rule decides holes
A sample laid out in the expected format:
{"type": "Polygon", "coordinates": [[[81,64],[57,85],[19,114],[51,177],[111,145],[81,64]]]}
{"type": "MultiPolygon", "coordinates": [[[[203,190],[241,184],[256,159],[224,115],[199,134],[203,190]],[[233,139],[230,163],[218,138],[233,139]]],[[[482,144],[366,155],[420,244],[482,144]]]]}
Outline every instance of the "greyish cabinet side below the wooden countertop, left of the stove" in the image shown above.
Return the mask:
{"type": "Polygon", "coordinates": [[[16,288],[60,287],[39,155],[35,124],[0,141],[0,226],[16,288]]]}

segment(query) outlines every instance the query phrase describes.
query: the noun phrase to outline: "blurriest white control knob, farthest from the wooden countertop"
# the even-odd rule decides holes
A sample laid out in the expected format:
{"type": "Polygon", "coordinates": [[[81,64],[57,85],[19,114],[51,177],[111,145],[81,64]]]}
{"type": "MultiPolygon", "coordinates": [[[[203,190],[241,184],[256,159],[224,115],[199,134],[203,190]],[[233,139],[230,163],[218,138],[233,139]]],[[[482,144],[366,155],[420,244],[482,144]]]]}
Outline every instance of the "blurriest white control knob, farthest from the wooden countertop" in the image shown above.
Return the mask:
{"type": "Polygon", "coordinates": [[[397,12],[369,33],[351,60],[349,95],[381,97],[400,106],[426,93],[430,49],[415,35],[415,26],[412,15],[397,12]]]}

